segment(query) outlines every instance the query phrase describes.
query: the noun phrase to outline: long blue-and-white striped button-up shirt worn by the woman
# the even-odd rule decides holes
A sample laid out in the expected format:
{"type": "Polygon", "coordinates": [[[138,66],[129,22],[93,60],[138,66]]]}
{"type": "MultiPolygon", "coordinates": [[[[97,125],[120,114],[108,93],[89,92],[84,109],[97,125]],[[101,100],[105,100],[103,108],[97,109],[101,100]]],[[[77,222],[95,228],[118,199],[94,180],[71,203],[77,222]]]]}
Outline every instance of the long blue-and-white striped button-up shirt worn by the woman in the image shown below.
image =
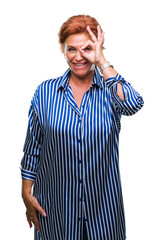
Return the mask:
{"type": "Polygon", "coordinates": [[[33,195],[47,213],[38,214],[34,239],[82,240],[84,218],[88,239],[124,240],[120,119],[136,113],[143,99],[119,74],[105,81],[96,67],[79,109],[69,73],[40,84],[29,110],[21,174],[34,181],[33,195]]]}

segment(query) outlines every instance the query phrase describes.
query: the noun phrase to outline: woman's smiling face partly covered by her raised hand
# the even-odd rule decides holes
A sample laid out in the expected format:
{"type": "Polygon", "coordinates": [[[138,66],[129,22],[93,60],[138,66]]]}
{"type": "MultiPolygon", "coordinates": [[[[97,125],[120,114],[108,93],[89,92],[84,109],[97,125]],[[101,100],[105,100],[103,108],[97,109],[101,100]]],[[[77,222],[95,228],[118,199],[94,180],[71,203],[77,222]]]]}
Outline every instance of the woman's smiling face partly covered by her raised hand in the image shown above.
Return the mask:
{"type": "MultiPolygon", "coordinates": [[[[88,41],[90,37],[86,33],[70,35],[65,41],[65,56],[71,71],[79,78],[84,78],[94,71],[94,64],[82,57],[80,48],[88,41]]],[[[85,51],[90,51],[86,48],[85,51]]]]}

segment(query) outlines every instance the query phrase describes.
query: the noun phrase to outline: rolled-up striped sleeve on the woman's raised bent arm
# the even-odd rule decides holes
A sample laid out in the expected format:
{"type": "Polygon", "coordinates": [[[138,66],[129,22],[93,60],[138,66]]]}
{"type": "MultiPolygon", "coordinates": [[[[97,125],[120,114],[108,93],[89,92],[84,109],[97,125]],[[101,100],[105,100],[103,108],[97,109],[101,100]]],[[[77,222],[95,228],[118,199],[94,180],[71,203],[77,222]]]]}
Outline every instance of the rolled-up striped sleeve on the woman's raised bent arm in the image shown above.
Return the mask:
{"type": "Polygon", "coordinates": [[[108,78],[106,80],[107,86],[110,88],[112,93],[116,110],[118,113],[129,116],[138,112],[144,105],[143,98],[140,94],[131,86],[129,82],[117,74],[116,77],[108,78]],[[117,83],[121,83],[124,100],[117,95],[117,83]]]}

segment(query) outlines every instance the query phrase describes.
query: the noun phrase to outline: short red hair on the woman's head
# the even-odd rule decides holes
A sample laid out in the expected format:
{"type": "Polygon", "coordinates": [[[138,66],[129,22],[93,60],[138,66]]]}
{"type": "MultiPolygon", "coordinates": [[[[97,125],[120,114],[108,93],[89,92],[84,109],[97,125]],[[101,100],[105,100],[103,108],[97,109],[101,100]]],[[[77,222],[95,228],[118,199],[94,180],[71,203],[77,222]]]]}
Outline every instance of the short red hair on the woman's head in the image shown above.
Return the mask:
{"type": "Polygon", "coordinates": [[[72,16],[62,24],[58,34],[62,52],[64,52],[64,43],[67,37],[69,37],[71,34],[88,33],[86,30],[86,26],[88,25],[97,37],[97,26],[99,23],[95,18],[89,15],[72,16]]]}

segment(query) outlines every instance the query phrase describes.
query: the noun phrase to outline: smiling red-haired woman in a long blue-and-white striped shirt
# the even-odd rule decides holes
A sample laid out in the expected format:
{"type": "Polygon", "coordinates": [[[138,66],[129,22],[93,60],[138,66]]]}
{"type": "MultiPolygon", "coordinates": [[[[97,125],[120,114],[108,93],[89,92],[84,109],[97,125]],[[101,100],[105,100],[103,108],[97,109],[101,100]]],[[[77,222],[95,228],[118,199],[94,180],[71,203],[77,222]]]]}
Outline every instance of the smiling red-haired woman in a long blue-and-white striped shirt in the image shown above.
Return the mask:
{"type": "Polygon", "coordinates": [[[59,42],[69,68],[38,86],[29,110],[21,161],[27,221],[35,240],[124,240],[120,119],[143,99],[104,57],[96,19],[69,18],[59,42]]]}

